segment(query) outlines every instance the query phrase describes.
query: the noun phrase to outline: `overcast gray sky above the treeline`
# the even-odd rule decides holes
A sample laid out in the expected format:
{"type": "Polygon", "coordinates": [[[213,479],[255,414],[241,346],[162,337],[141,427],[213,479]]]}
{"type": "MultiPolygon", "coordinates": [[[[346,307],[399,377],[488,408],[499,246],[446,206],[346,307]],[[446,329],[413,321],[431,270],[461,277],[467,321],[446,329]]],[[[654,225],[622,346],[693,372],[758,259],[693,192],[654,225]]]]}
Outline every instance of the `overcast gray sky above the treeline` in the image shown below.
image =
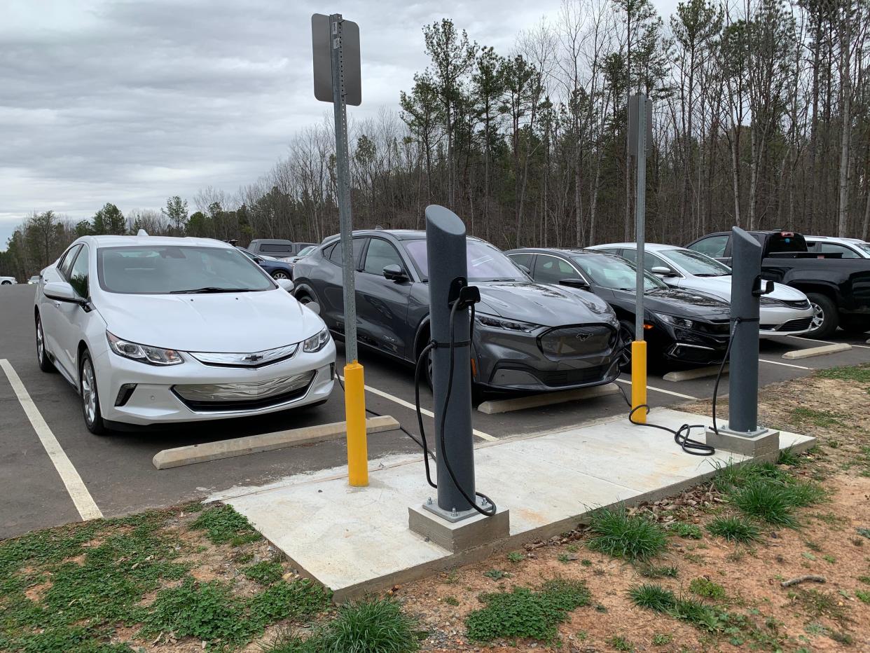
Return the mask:
{"type": "Polygon", "coordinates": [[[3,0],[0,249],[33,211],[158,208],[267,172],[330,108],[312,92],[314,12],[359,24],[363,104],[350,111],[365,118],[397,108],[425,68],[423,24],[451,17],[506,53],[559,1],[3,0]]]}

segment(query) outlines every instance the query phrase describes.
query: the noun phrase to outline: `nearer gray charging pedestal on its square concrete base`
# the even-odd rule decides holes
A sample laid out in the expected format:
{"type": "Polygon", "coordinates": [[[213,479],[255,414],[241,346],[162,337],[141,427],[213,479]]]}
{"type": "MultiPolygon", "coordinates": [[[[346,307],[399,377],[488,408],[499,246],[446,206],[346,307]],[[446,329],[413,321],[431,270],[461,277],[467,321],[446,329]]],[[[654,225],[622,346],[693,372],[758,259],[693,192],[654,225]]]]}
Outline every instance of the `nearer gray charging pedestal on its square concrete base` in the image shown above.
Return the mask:
{"type": "MultiPolygon", "coordinates": [[[[459,551],[499,540],[509,535],[508,511],[499,507],[493,516],[481,515],[465,495],[475,498],[474,443],[472,441],[471,342],[469,309],[457,309],[453,317],[453,375],[450,377],[451,294],[456,279],[466,279],[465,224],[443,206],[426,207],[426,254],[429,260],[429,316],[432,340],[432,385],[434,386],[435,431],[428,440],[438,469],[438,501],[408,508],[409,527],[432,542],[459,551]],[[448,388],[448,380],[451,380],[448,388]],[[447,394],[450,403],[444,412],[447,394]],[[444,453],[441,448],[444,414],[444,453]],[[446,461],[456,477],[454,482],[446,461]],[[463,491],[460,491],[462,488],[463,491]]],[[[492,509],[479,497],[478,506],[492,509]]]]}

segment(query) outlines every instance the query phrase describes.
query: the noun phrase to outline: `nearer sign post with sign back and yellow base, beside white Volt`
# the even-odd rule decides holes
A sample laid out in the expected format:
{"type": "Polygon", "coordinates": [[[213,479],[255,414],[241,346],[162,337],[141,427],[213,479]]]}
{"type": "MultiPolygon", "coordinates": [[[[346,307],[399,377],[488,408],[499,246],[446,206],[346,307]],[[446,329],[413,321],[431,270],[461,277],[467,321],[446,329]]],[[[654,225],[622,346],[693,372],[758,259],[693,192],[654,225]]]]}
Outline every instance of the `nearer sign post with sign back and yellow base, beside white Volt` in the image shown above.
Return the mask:
{"type": "Polygon", "coordinates": [[[314,56],[314,97],[331,102],[335,115],[335,160],[338,180],[338,222],[345,296],[345,419],[348,481],[369,484],[365,434],[365,380],[357,355],[357,303],[354,283],[351,172],[347,146],[346,104],[360,104],[359,27],[341,14],[311,17],[314,56]],[[328,67],[327,67],[328,64],[328,67]],[[329,79],[327,83],[326,80],[329,79]],[[331,92],[327,93],[326,89],[331,92]],[[350,91],[350,92],[349,92],[350,91]]]}

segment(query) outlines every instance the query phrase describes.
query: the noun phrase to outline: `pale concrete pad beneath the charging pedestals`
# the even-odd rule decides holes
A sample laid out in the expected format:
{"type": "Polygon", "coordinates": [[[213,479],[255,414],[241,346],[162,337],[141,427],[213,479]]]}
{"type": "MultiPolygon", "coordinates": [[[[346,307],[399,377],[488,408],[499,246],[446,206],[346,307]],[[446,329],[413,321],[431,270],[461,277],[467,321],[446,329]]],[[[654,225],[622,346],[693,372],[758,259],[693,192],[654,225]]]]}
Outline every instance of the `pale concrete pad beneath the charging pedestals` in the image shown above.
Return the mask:
{"type": "MultiPolygon", "coordinates": [[[[649,421],[678,428],[706,424],[709,418],[657,409],[649,421]]],[[[814,442],[804,435],[780,434],[780,446],[795,452],[814,442]]],[[[324,473],[315,480],[254,489],[227,502],[301,573],[331,588],[340,602],[559,535],[600,506],[679,494],[715,474],[717,466],[750,460],[728,452],[704,458],[684,454],[670,435],[632,425],[624,416],[556,433],[478,443],[475,459],[478,490],[510,510],[510,531],[503,539],[461,553],[451,553],[408,528],[409,508],[432,495],[420,457],[373,470],[368,488],[351,488],[345,470],[336,468],[331,477],[324,473]]]]}

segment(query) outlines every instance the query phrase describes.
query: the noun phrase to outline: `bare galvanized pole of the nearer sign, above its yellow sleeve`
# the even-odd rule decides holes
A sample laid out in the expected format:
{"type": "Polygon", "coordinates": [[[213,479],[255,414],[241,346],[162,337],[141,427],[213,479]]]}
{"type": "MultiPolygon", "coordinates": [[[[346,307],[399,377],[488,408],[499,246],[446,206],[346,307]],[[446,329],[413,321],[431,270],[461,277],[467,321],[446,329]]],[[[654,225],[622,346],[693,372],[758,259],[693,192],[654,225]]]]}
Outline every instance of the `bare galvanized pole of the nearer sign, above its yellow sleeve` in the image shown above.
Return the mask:
{"type": "Polygon", "coordinates": [[[332,108],[335,113],[335,165],[338,177],[338,224],[341,232],[341,253],[344,261],[345,293],[345,359],[357,359],[357,306],[353,273],[353,242],[351,239],[351,171],[347,147],[347,108],[345,104],[345,75],[341,59],[341,14],[329,17],[332,58],[332,108]]]}

